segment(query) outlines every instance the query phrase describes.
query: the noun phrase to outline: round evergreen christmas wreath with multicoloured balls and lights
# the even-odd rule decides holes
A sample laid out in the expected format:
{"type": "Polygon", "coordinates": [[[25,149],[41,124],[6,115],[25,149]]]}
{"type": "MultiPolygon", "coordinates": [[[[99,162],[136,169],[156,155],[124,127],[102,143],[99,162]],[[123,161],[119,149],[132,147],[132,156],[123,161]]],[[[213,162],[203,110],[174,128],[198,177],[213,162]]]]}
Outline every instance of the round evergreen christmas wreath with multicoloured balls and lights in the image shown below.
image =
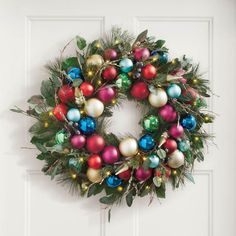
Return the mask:
{"type": "Polygon", "coordinates": [[[68,43],[46,66],[50,77],[29,109],[12,109],[36,119],[29,132],[42,171],[82,196],[103,194],[100,202],[108,205],[164,198],[168,182],[174,188],[194,182],[194,163],[204,160],[211,137],[203,124],[213,121],[198,65],[185,56],[170,60],[165,41],[147,30],[136,40],[113,28],[92,43],[80,36],[72,42],[76,55],[63,56],[68,43]],[[127,99],[143,108],[140,137],[106,130],[114,107],[127,99]]]}

